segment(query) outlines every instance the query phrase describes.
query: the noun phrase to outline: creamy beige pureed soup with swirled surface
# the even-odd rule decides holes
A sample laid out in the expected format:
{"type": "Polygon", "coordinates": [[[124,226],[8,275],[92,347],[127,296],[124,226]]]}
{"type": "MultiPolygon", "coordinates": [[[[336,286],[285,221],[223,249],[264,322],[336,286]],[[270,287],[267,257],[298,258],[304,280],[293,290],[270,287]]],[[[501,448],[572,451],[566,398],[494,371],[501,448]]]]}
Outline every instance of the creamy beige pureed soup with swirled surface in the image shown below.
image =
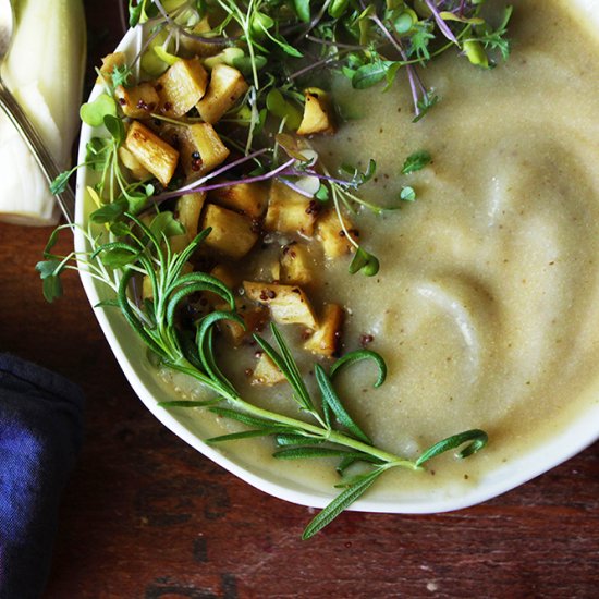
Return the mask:
{"type": "MultiPolygon", "coordinates": [[[[345,349],[371,335],[389,367],[379,390],[372,366],[343,376],[347,409],[377,445],[409,457],[470,428],[490,438],[428,474],[393,470],[377,484],[381,497],[459,492],[598,401],[599,40],[569,4],[515,2],[512,54],[492,71],[455,52],[433,61],[423,75],[441,101],[419,123],[400,74],[389,93],[353,93],[345,108],[360,118],[314,140],[330,167],[377,161],[369,199],[396,205],[402,185],[418,194],[354,219],[380,259],[377,277],[350,276],[345,260],[320,272],[322,295],[347,311],[345,349]],[[420,149],[432,164],[401,175],[420,149]]],[[[284,384],[260,394],[291,404],[284,384]]],[[[311,488],[338,481],[330,464],[272,460],[270,442],[221,449],[311,488]]]]}

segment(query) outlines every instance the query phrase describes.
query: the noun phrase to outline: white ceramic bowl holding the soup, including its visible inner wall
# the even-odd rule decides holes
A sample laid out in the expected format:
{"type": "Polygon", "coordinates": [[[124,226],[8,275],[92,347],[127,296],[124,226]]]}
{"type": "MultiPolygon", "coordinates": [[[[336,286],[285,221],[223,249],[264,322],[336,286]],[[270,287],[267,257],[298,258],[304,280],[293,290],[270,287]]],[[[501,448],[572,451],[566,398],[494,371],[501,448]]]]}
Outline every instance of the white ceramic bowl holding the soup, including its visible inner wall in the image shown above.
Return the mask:
{"type": "MultiPolygon", "coordinates": [[[[580,0],[583,10],[585,7],[589,9],[587,4],[586,0],[580,0]]],[[[118,49],[124,51],[131,60],[139,49],[139,41],[137,32],[130,32],[118,49]]],[[[90,99],[96,98],[100,93],[101,87],[96,86],[90,99]]],[[[80,162],[85,159],[85,146],[93,133],[89,126],[83,126],[80,162]]],[[[76,222],[83,227],[87,227],[87,217],[94,209],[85,193],[91,175],[93,173],[86,169],[81,169],[77,178],[76,222]]],[[[75,232],[75,247],[77,252],[89,250],[81,231],[75,232]]],[[[81,278],[91,305],[109,296],[107,289],[89,274],[82,272],[81,278]]],[[[169,395],[164,384],[157,377],[155,368],[149,364],[145,346],[118,310],[97,308],[95,311],[123,372],[137,395],[147,408],[181,439],[232,474],[274,497],[303,505],[322,508],[337,494],[335,489],[330,486],[322,486],[322,488],[307,486],[293,476],[293,469],[290,469],[289,474],[285,472],[281,474],[280,470],[269,472],[264,466],[247,461],[243,454],[230,453],[227,447],[219,448],[219,451],[206,444],[203,439],[212,436],[213,432],[207,430],[200,411],[181,408],[169,412],[157,405],[159,401],[167,401],[172,396],[169,395]]],[[[536,445],[529,453],[511,461],[504,467],[489,472],[476,484],[459,493],[450,489],[440,489],[435,493],[415,492],[413,496],[390,499],[388,492],[377,493],[375,486],[365,499],[357,501],[351,509],[368,512],[435,513],[466,508],[497,497],[549,470],[584,450],[598,437],[599,404],[595,404],[559,435],[536,445]]]]}

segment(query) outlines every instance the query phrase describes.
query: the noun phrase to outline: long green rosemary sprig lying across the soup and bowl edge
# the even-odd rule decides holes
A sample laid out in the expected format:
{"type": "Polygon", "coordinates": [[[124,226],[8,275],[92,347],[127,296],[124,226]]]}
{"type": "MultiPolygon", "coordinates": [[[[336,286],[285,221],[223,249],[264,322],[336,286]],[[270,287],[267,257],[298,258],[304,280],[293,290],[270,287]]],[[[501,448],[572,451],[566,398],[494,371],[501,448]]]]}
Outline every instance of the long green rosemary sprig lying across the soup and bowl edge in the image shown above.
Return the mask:
{"type": "Polygon", "coordinates": [[[337,460],[337,470],[342,476],[338,487],[344,490],[308,524],[303,538],[307,539],[327,526],[387,470],[419,470],[429,460],[461,445],[465,448],[459,457],[472,455],[486,445],[487,435],[475,429],[443,439],[416,460],[377,447],[344,406],[334,388],[334,380],[351,365],[369,360],[378,371],[374,386],[380,387],[387,375],[383,358],[376,352],[358,350],[344,355],[328,369],[316,364],[317,400],[310,395],[292,352],[274,323],[270,328],[272,343],[258,334],[254,339],[288,380],[293,392],[291,401],[298,416],[290,417],[265,409],[244,399],[220,369],[213,343],[215,330],[221,320],[234,320],[244,326],[234,311],[233,295],[218,279],[204,272],[186,274],[183,269],[210,231],[199,233],[184,250],[172,252],[169,221],[163,215],[155,217],[149,225],[133,215],[125,215],[131,224],[123,241],[105,243],[102,237],[86,233],[90,250],[83,255],[51,254],[57,231],[45,253],[47,261],[37,266],[44,279],[47,298],[51,301],[60,294],[61,272],[66,268],[77,268],[71,262],[78,258],[83,265],[80,268],[87,269],[95,278],[107,283],[115,294],[114,301],[105,302],[101,307],[117,306],[129,326],[163,366],[190,376],[212,395],[206,401],[169,401],[160,405],[166,408],[209,409],[245,427],[245,430],[239,432],[207,439],[208,443],[262,437],[272,439],[276,448],[273,456],[278,460],[337,460]],[[107,262],[117,268],[107,268],[107,262]],[[140,303],[132,288],[132,282],[140,276],[147,277],[150,282],[152,302],[140,303]],[[231,310],[212,311],[199,318],[194,330],[188,331],[179,322],[178,314],[188,298],[198,292],[216,293],[229,304],[231,310]],[[355,467],[358,473],[347,477],[347,472],[355,467]]]}

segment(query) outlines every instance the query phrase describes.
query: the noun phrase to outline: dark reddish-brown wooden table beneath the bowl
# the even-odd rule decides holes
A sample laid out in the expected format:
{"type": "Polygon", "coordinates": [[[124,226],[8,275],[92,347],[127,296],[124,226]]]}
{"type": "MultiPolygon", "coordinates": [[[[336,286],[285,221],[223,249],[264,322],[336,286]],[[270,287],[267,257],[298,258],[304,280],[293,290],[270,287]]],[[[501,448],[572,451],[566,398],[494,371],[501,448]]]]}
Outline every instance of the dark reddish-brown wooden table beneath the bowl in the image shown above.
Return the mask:
{"type": "MultiPolygon", "coordinates": [[[[119,19],[87,4],[97,59],[119,19]]],[[[48,598],[599,597],[598,444],[482,505],[346,513],[304,542],[308,509],[241,482],[144,408],[75,274],[61,302],[44,301],[34,266],[48,234],[0,224],[0,349],[87,396],[48,598]]]]}

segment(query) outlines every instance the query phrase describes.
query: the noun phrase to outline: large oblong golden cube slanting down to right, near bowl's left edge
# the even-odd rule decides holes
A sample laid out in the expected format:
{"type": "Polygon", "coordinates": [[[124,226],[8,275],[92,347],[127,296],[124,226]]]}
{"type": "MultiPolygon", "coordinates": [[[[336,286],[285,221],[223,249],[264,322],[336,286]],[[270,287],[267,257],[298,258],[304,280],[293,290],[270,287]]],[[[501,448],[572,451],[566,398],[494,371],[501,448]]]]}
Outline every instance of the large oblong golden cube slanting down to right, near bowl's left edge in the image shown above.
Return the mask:
{"type": "Polygon", "coordinates": [[[169,184],[179,161],[179,152],[173,147],[138,121],[131,123],[125,146],[162,185],[169,184]]]}

